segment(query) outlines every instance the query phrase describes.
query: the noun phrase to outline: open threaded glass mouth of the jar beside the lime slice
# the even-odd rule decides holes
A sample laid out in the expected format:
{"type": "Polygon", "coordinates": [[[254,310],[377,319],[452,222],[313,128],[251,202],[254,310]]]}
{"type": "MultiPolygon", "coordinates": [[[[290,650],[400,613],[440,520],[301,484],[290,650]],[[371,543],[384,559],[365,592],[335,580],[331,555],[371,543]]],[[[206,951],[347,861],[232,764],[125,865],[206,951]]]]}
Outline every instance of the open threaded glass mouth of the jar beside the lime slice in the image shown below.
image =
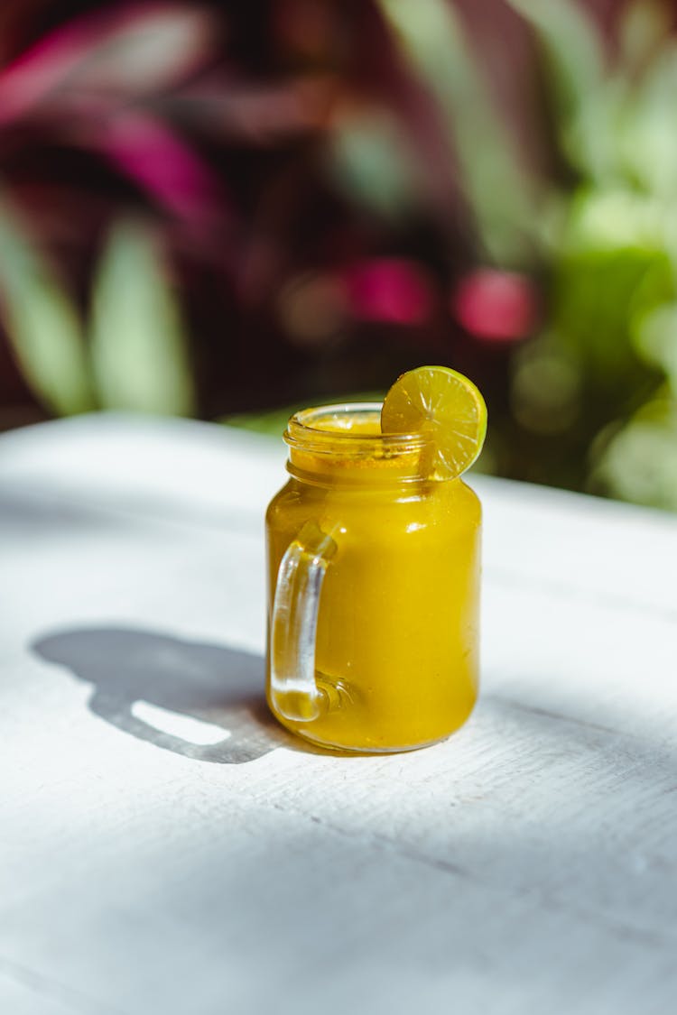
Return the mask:
{"type": "Polygon", "coordinates": [[[394,458],[422,451],[422,433],[382,433],[381,402],[348,402],[302,409],[289,419],[284,441],[314,455],[394,458]]]}

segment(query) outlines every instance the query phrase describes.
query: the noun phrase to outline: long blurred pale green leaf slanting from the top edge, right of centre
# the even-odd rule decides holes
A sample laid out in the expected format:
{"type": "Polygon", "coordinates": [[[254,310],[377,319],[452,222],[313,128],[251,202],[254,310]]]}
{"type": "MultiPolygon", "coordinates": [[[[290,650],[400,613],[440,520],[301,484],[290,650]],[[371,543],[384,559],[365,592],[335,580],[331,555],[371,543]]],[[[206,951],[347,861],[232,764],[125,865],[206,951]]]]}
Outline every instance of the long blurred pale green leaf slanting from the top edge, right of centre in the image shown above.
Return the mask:
{"type": "Polygon", "coordinates": [[[379,0],[379,5],[445,115],[487,251],[503,264],[520,263],[535,234],[534,188],[492,106],[460,19],[446,0],[379,0]]]}

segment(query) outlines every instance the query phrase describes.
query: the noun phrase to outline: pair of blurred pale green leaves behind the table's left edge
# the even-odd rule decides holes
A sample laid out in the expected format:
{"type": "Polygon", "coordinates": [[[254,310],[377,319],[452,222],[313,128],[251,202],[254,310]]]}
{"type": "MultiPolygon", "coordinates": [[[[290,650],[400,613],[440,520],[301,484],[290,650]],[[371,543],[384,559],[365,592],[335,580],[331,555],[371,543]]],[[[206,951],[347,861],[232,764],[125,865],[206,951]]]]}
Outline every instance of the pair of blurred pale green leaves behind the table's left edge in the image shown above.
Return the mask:
{"type": "Polygon", "coordinates": [[[192,412],[181,310],[147,224],[115,225],[85,316],[16,213],[0,206],[0,295],[24,376],[55,413],[192,412]]]}

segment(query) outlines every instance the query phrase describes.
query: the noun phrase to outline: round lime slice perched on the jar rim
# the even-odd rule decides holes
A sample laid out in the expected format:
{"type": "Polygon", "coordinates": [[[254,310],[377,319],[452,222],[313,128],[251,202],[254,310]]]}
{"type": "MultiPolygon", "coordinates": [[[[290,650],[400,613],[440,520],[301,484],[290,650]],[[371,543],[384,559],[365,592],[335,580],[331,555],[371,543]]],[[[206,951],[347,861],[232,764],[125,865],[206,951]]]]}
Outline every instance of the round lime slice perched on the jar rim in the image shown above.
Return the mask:
{"type": "Polygon", "coordinates": [[[381,429],[429,436],[433,452],[429,478],[454,479],[482,450],[486,405],[463,374],[448,366],[419,366],[398,378],[386,395],[381,429]]]}

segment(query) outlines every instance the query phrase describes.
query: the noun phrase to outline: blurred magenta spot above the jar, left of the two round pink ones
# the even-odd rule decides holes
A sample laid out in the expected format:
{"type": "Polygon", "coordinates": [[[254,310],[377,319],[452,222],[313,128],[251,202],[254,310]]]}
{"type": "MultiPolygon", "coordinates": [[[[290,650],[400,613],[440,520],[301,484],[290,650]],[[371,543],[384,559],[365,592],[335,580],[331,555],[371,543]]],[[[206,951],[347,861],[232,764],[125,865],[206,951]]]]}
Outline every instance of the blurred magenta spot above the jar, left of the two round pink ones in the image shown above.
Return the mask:
{"type": "Polygon", "coordinates": [[[427,276],[413,261],[363,261],[343,275],[351,313],[363,321],[420,325],[430,316],[427,276]]]}

